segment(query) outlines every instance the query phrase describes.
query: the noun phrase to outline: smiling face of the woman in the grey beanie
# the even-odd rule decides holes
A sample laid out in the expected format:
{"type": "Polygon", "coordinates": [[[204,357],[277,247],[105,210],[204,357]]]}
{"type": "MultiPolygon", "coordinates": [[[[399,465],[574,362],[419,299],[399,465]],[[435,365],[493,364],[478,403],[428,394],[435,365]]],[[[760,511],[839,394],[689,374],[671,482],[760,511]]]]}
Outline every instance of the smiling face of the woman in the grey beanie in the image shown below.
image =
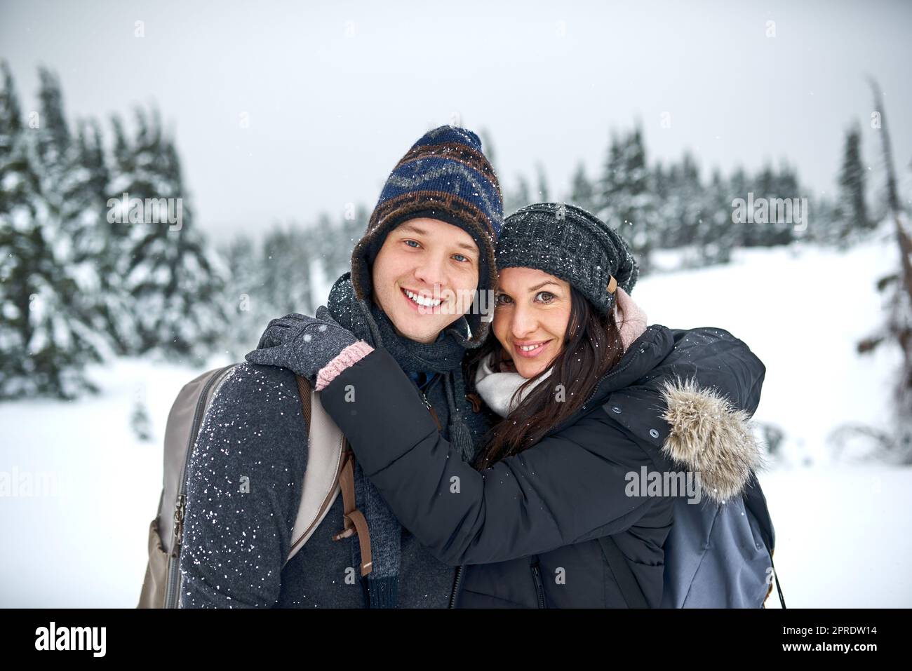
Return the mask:
{"type": "Polygon", "coordinates": [[[504,268],[494,309],[494,336],[516,372],[529,378],[554,361],[570,321],[570,284],[534,268],[504,268]]]}

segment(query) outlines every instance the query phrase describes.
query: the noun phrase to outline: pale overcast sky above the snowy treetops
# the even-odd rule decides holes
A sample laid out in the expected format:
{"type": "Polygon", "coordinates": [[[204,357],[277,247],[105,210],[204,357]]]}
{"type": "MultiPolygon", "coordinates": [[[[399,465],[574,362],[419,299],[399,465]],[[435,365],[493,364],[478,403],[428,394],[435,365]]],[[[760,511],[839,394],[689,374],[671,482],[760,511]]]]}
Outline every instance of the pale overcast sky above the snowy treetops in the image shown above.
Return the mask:
{"type": "Polygon", "coordinates": [[[876,168],[871,74],[897,167],[912,158],[910,2],[310,5],[0,0],[0,57],[26,111],[39,64],[69,119],[156,103],[216,238],[372,207],[411,143],[453,121],[488,131],[510,187],[541,161],[553,198],[637,119],[650,162],[785,158],[814,195],[834,189],[853,120],[876,168]]]}

